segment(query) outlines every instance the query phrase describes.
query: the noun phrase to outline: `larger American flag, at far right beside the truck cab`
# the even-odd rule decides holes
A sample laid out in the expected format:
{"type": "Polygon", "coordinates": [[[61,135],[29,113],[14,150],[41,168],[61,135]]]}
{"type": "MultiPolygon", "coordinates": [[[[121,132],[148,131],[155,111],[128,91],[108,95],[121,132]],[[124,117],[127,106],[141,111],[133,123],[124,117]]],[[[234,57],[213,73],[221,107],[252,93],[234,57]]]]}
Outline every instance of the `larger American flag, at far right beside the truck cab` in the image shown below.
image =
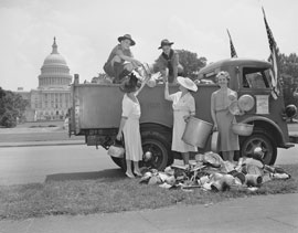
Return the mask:
{"type": "Polygon", "coordinates": [[[278,73],[278,61],[277,61],[278,47],[277,47],[276,41],[274,40],[273,32],[268,25],[264,8],[262,8],[262,10],[263,10],[263,14],[264,14],[264,22],[265,22],[268,42],[269,42],[269,49],[270,49],[269,62],[273,65],[273,70],[270,71],[272,83],[273,83],[272,95],[276,99],[277,96],[279,95],[279,88],[278,88],[279,73],[278,73]]]}

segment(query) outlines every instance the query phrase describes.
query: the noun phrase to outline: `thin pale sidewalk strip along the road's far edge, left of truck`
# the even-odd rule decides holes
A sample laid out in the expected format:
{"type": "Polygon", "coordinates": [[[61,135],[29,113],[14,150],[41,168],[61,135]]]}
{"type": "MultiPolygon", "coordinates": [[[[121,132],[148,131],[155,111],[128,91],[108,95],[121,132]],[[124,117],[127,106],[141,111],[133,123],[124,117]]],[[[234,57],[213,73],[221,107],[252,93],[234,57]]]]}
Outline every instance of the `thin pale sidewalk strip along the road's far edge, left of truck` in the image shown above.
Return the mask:
{"type": "Polygon", "coordinates": [[[1,147],[67,146],[67,145],[85,145],[85,141],[84,140],[46,140],[46,141],[0,142],[0,148],[1,147]]]}

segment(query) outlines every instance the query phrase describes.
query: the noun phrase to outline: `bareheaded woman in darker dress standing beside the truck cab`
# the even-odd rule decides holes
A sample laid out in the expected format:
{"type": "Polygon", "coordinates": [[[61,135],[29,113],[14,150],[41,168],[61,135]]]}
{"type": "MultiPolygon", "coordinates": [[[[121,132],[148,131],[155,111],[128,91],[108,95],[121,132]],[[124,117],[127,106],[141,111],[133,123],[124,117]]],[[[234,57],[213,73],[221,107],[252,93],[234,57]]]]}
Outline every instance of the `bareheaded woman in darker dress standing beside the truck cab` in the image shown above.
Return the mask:
{"type": "Polygon", "coordinates": [[[232,123],[235,116],[228,110],[232,102],[237,99],[237,93],[227,87],[230,74],[220,72],[216,75],[220,89],[211,95],[211,116],[214,123],[214,130],[219,130],[220,151],[224,160],[234,162],[234,151],[240,149],[238,136],[232,130],[232,123]]]}

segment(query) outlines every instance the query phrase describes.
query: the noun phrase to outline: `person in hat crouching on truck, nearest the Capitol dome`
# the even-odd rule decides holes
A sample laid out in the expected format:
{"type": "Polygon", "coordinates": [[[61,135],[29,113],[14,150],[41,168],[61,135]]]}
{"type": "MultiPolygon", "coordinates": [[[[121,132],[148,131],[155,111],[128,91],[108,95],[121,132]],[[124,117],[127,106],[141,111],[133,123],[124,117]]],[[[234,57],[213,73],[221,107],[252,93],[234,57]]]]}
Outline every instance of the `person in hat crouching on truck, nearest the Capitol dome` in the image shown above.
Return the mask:
{"type": "Polygon", "coordinates": [[[130,46],[136,42],[130,34],[125,34],[118,38],[117,44],[110,52],[107,62],[104,65],[106,74],[114,78],[114,83],[121,83],[121,80],[127,76],[134,68],[141,63],[134,59],[130,46]]]}

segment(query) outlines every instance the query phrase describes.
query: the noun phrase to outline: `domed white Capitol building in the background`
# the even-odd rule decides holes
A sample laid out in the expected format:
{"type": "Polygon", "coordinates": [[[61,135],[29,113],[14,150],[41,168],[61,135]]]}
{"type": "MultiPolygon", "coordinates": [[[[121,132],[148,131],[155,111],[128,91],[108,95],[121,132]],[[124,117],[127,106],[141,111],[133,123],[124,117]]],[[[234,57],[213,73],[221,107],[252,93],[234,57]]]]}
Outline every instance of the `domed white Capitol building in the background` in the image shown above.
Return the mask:
{"type": "Polygon", "coordinates": [[[24,99],[30,102],[25,113],[26,121],[62,120],[71,107],[72,75],[65,59],[58,53],[56,39],[52,45],[52,53],[47,55],[39,75],[36,89],[23,92],[18,88],[24,99]]]}

